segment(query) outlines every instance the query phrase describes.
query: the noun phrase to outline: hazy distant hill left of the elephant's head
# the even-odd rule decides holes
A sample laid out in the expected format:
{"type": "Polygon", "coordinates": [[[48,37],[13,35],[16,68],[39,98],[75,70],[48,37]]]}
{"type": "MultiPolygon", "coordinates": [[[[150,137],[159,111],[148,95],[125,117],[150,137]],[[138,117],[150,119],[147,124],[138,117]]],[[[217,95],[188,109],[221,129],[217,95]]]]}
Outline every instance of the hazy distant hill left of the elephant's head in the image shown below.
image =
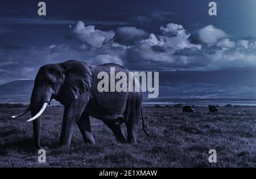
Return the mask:
{"type": "Polygon", "coordinates": [[[28,103],[34,80],[16,80],[0,85],[0,102],[28,103]]]}

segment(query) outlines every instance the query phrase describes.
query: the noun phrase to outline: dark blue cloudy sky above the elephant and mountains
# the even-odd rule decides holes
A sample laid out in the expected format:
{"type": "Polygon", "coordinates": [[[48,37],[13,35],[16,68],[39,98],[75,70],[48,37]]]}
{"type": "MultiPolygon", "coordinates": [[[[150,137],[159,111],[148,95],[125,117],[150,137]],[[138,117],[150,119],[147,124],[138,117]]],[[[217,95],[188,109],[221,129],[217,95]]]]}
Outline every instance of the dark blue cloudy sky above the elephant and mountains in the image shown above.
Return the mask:
{"type": "Polygon", "coordinates": [[[0,84],[69,59],[137,71],[256,66],[256,1],[0,2],[0,84]]]}

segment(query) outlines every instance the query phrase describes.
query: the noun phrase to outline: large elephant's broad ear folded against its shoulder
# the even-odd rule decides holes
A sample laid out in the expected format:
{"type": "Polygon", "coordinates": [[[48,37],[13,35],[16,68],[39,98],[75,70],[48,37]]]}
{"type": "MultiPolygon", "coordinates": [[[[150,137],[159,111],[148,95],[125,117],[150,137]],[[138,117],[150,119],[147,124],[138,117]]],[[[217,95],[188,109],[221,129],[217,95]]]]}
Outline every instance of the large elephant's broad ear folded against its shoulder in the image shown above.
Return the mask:
{"type": "Polygon", "coordinates": [[[79,61],[67,61],[61,64],[64,69],[64,83],[61,87],[63,103],[70,104],[86,91],[90,90],[93,83],[92,69],[79,61]]]}

